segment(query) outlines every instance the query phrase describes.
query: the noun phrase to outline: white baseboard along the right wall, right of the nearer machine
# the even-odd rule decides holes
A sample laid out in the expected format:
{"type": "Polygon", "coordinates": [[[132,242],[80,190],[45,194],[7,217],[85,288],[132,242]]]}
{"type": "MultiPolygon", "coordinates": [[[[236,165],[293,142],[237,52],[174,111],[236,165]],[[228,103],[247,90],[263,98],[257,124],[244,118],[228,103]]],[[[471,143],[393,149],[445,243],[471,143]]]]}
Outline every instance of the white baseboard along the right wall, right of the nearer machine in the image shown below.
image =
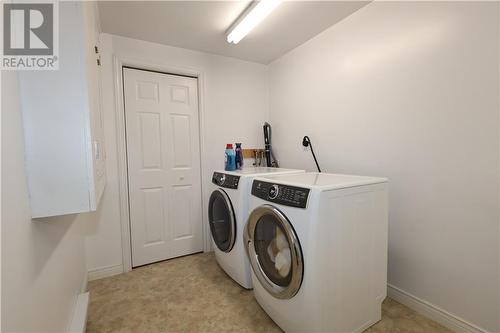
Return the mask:
{"type": "Polygon", "coordinates": [[[438,306],[404,290],[387,284],[387,296],[457,333],[487,333],[488,331],[457,317],[438,306]]]}

